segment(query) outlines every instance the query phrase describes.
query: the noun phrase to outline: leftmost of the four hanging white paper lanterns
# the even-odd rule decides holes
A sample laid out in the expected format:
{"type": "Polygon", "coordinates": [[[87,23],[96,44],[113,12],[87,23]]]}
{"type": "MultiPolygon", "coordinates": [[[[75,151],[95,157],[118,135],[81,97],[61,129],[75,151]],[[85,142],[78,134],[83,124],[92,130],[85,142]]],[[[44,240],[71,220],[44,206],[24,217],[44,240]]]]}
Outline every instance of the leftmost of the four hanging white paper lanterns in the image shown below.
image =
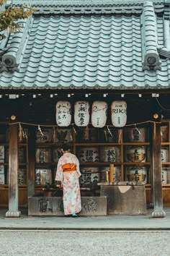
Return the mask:
{"type": "Polygon", "coordinates": [[[58,101],[56,104],[56,122],[59,127],[68,127],[71,124],[71,103],[58,101]]]}

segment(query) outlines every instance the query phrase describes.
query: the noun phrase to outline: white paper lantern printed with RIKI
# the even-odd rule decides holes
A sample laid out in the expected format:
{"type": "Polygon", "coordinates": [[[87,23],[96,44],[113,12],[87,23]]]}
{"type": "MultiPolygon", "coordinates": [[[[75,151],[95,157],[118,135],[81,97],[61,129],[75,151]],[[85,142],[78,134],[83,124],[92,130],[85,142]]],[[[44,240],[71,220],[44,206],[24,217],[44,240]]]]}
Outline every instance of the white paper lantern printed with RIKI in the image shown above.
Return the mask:
{"type": "Polygon", "coordinates": [[[127,104],[125,101],[113,101],[111,105],[112,124],[124,127],[127,121],[127,104]]]}

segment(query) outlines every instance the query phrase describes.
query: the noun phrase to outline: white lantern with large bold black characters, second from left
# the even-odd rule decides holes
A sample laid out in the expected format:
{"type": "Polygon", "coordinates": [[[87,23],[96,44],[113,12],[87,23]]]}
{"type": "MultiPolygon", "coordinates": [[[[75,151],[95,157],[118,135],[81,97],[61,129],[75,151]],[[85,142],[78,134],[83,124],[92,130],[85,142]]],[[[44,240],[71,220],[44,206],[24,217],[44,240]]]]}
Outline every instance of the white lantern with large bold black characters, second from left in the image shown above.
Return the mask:
{"type": "Polygon", "coordinates": [[[89,102],[76,101],[74,105],[74,122],[78,127],[86,127],[89,124],[89,102]]]}

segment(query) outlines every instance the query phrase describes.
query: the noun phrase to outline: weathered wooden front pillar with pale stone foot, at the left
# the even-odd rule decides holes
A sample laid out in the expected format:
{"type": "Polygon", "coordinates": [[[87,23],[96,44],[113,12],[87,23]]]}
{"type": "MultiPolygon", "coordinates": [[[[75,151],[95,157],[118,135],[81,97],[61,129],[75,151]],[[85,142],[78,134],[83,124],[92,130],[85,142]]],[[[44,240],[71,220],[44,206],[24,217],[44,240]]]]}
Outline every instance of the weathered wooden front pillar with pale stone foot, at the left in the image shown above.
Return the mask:
{"type": "Polygon", "coordinates": [[[6,217],[20,217],[18,210],[18,125],[9,125],[9,210],[6,217]]]}

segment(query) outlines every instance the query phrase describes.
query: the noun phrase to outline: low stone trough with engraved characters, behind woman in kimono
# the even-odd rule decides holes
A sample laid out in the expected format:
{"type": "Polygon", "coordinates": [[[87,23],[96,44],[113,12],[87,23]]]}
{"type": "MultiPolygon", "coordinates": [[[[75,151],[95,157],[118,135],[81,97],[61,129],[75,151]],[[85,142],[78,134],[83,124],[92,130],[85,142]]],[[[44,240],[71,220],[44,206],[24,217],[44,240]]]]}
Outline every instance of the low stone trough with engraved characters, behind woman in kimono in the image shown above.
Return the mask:
{"type": "MultiPolygon", "coordinates": [[[[81,197],[79,216],[107,216],[107,197],[81,197]]],[[[28,197],[28,216],[64,216],[62,197],[28,197]]]]}

